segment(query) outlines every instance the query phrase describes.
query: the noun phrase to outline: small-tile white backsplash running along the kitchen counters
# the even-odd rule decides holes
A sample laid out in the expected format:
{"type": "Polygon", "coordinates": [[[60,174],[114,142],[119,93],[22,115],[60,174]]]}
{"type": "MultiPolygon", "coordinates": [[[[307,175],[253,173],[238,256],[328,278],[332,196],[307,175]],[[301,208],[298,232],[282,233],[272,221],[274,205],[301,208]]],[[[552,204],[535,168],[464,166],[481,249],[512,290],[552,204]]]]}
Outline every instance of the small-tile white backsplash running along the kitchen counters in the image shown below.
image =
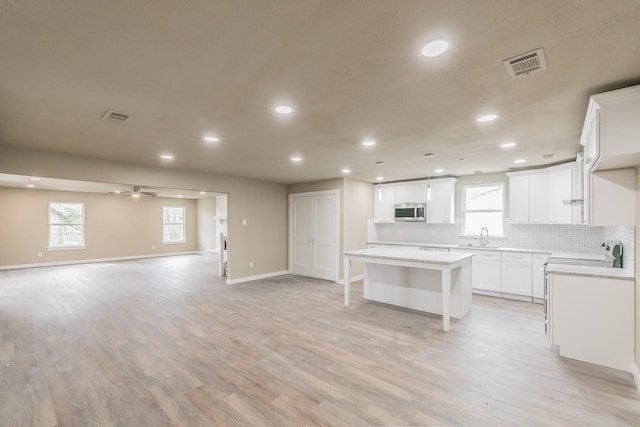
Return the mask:
{"type": "MultiPolygon", "coordinates": [[[[608,240],[622,243],[625,270],[633,274],[635,227],[592,227],[578,224],[510,224],[504,223],[504,236],[491,236],[489,244],[518,249],[560,252],[600,253],[600,245],[608,240]]],[[[367,224],[368,242],[406,242],[424,244],[465,245],[477,243],[462,236],[462,221],[455,224],[374,223],[367,224]]]]}

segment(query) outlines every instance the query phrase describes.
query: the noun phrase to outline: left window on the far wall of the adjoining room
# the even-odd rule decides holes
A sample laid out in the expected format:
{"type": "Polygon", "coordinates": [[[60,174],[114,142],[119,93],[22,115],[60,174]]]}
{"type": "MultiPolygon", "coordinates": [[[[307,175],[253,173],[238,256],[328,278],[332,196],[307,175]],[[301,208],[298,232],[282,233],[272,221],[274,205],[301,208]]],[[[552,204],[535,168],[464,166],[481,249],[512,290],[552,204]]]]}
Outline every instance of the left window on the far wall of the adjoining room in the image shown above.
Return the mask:
{"type": "Polygon", "coordinates": [[[84,249],[84,203],[49,202],[49,250],[84,249]]]}

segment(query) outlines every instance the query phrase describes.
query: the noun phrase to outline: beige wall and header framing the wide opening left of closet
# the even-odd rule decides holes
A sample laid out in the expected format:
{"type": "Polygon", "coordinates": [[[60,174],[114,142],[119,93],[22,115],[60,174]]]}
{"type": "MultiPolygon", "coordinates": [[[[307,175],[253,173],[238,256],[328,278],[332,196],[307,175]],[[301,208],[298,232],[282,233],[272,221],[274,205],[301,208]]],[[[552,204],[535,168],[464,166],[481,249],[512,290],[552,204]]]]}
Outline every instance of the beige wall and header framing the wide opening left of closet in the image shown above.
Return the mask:
{"type": "Polygon", "coordinates": [[[0,145],[0,173],[227,193],[229,279],[287,270],[286,185],[180,166],[141,167],[0,145]]]}

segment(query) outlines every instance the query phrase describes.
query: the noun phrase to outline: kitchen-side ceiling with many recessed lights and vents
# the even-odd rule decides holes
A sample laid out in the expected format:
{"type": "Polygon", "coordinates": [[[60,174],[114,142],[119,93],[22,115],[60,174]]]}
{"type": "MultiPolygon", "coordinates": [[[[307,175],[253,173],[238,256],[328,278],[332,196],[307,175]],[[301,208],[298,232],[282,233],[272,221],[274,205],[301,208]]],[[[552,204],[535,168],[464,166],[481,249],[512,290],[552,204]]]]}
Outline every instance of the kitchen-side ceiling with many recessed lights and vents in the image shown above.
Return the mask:
{"type": "Polygon", "coordinates": [[[0,144],[281,183],[541,166],[580,151],[589,95],[640,83],[639,23],[638,0],[2,1],[0,144]]]}

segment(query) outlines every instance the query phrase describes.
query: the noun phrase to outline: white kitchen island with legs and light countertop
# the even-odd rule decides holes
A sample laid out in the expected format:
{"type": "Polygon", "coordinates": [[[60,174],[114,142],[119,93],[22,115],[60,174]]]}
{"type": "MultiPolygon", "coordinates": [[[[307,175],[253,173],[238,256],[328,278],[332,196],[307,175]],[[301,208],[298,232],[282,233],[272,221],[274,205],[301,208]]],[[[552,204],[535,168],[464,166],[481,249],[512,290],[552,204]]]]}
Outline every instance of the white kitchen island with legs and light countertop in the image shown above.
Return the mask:
{"type": "Polygon", "coordinates": [[[369,248],[344,253],[344,305],[351,295],[351,262],[364,263],[364,298],[460,319],[471,308],[472,253],[369,248]]]}

